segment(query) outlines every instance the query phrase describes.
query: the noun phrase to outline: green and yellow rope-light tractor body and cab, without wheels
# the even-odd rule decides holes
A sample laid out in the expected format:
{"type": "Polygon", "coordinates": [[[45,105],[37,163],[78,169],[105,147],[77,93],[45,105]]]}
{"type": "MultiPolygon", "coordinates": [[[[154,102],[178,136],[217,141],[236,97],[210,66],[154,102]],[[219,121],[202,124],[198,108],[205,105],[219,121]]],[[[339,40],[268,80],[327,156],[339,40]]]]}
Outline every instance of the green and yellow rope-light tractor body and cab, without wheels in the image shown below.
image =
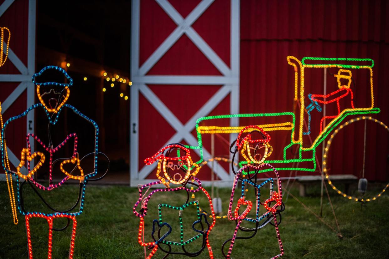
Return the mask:
{"type": "MultiPolygon", "coordinates": [[[[374,61],[373,59],[359,59],[359,58],[322,58],[322,57],[304,57],[301,59],[297,59],[293,56],[287,56],[287,62],[289,65],[293,66],[294,68],[294,103],[300,101],[300,113],[297,113],[299,116],[299,120],[297,120],[298,125],[296,125],[296,113],[294,111],[286,111],[286,112],[280,112],[280,113],[246,113],[246,114],[229,114],[229,115],[218,115],[218,116],[205,116],[198,118],[196,121],[196,133],[198,138],[198,146],[187,146],[188,148],[192,149],[200,149],[200,160],[196,163],[201,163],[203,161],[203,143],[202,143],[202,134],[210,134],[210,133],[238,133],[240,130],[242,130],[245,126],[237,126],[237,127],[220,127],[220,126],[204,126],[200,125],[200,123],[205,122],[207,120],[215,120],[215,119],[226,119],[226,118],[259,118],[259,117],[276,117],[276,116],[291,116],[291,120],[287,122],[282,123],[271,123],[271,124],[262,124],[258,125],[265,131],[273,131],[273,130],[291,130],[291,142],[285,146],[283,151],[283,159],[282,160],[267,160],[267,163],[270,164],[283,164],[286,166],[275,166],[276,170],[298,170],[298,171],[306,171],[306,172],[314,172],[316,170],[316,161],[315,161],[315,149],[319,144],[321,144],[326,137],[328,137],[331,132],[334,130],[342,129],[342,126],[338,127],[342,121],[350,115],[367,115],[370,116],[371,114],[376,114],[380,112],[379,108],[374,107],[374,96],[373,96],[373,66],[374,61]],[[306,61],[314,61],[314,62],[320,62],[322,64],[307,64],[306,61]],[[340,62],[339,62],[340,61],[340,62]],[[349,61],[349,62],[371,62],[370,65],[350,65],[350,64],[341,64],[342,62],[349,61]],[[352,103],[351,108],[345,108],[343,110],[339,110],[338,115],[333,116],[332,120],[324,127],[324,129],[321,130],[318,136],[316,136],[313,141],[312,145],[308,147],[304,147],[303,145],[303,136],[307,135],[307,133],[304,133],[304,113],[313,110],[314,106],[311,104],[317,105],[317,110],[320,110],[320,106],[315,101],[312,94],[305,93],[305,87],[304,87],[304,72],[305,68],[338,68],[338,74],[334,75],[335,80],[338,82],[338,87],[340,90],[348,89],[350,87],[350,81],[351,81],[351,73],[349,73],[349,69],[366,69],[368,70],[368,73],[370,75],[370,95],[371,95],[371,105],[370,107],[364,107],[364,108],[353,108],[354,104],[352,103]],[[300,76],[299,74],[300,69],[300,76]],[[349,80],[347,85],[341,85],[340,79],[346,79],[349,80]],[[300,86],[300,87],[299,87],[300,86]],[[309,94],[308,99],[312,101],[310,105],[307,105],[305,107],[305,94],[309,94]],[[311,99],[312,98],[312,99],[311,99]],[[307,109],[307,110],[305,110],[307,109]],[[301,118],[301,119],[300,119],[301,118]],[[296,132],[296,129],[298,132],[296,132]],[[287,158],[286,151],[287,149],[291,148],[294,145],[298,145],[298,157],[296,158],[287,158]],[[308,154],[308,151],[312,151],[312,157],[308,154]],[[303,154],[305,157],[308,154],[308,158],[303,158],[303,154]],[[311,167],[291,167],[291,163],[298,163],[298,162],[312,162],[313,165],[311,167]]],[[[350,89],[347,90],[347,93],[350,89]]],[[[339,90],[335,91],[338,92],[339,90]]],[[[335,93],[334,92],[334,93],[335,93]]],[[[316,95],[317,96],[317,95],[316,95]]],[[[352,92],[351,92],[352,96],[352,92]]],[[[327,97],[327,96],[326,96],[327,97]]],[[[340,97],[341,98],[341,97],[340,97]]],[[[325,104],[325,103],[324,103],[325,104]]],[[[310,117],[309,113],[308,116],[310,117]]],[[[310,133],[310,132],[309,132],[310,133]]],[[[308,134],[309,134],[308,133],[308,134]]],[[[312,135],[312,134],[311,134],[312,135]]],[[[247,162],[243,161],[240,162],[240,167],[247,164],[247,162]]],[[[270,171],[269,169],[261,170],[260,172],[267,172],[270,171]]]]}

